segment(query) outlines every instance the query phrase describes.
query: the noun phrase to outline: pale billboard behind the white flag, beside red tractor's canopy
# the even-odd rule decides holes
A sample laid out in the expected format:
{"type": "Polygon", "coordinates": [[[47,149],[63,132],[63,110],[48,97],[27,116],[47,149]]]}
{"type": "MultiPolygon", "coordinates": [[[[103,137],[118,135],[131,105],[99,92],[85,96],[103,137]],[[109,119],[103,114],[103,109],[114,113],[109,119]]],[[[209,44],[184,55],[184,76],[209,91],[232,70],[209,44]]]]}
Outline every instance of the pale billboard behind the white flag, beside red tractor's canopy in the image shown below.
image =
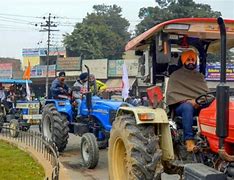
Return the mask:
{"type": "Polygon", "coordinates": [[[121,77],[123,63],[125,62],[128,69],[128,76],[137,76],[138,74],[138,59],[128,60],[109,60],[108,61],[108,77],[121,77]]]}

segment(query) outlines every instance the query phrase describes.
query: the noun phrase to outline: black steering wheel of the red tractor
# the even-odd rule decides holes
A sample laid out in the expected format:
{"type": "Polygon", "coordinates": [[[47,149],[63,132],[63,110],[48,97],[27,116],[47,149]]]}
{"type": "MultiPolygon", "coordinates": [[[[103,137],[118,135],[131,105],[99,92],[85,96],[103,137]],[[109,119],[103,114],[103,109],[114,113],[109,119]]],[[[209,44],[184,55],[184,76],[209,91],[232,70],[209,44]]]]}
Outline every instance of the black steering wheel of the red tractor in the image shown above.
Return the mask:
{"type": "Polygon", "coordinates": [[[216,92],[209,92],[207,94],[202,94],[195,99],[195,102],[201,107],[208,107],[215,100],[216,92]]]}

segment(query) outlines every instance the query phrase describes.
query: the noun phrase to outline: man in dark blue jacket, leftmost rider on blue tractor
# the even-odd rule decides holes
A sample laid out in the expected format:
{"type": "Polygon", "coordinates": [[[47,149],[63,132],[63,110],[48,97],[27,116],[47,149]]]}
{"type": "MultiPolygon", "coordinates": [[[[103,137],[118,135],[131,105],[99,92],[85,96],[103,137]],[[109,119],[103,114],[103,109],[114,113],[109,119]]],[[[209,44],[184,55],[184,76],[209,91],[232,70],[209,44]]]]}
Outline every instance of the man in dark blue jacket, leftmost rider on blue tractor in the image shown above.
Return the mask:
{"type": "Polygon", "coordinates": [[[52,98],[57,99],[59,95],[67,95],[69,92],[68,86],[65,84],[65,72],[60,72],[59,76],[52,82],[50,91],[52,98]]]}

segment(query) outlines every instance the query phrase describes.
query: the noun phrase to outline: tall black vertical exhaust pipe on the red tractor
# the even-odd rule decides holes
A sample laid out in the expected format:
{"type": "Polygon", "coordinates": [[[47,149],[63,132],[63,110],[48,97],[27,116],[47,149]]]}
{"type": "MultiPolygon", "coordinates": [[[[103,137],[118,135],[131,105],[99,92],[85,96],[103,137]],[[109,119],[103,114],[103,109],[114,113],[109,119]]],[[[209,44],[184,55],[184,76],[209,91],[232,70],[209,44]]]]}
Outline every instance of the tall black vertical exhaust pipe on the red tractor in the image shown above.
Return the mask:
{"type": "Polygon", "coordinates": [[[221,73],[220,83],[216,87],[216,135],[219,137],[219,149],[224,150],[224,139],[229,127],[229,86],[226,84],[226,28],[221,17],[217,19],[221,36],[221,73]]]}

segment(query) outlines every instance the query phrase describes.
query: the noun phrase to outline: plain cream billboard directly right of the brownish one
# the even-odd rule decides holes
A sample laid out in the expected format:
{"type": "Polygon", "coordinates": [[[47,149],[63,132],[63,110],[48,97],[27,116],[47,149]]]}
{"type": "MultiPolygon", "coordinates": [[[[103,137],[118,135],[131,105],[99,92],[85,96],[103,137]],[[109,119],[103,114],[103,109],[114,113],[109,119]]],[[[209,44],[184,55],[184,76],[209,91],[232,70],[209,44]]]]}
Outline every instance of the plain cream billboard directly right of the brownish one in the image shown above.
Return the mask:
{"type": "Polygon", "coordinates": [[[107,59],[85,59],[82,61],[82,70],[86,71],[84,65],[89,67],[90,73],[97,79],[107,79],[107,59]]]}

